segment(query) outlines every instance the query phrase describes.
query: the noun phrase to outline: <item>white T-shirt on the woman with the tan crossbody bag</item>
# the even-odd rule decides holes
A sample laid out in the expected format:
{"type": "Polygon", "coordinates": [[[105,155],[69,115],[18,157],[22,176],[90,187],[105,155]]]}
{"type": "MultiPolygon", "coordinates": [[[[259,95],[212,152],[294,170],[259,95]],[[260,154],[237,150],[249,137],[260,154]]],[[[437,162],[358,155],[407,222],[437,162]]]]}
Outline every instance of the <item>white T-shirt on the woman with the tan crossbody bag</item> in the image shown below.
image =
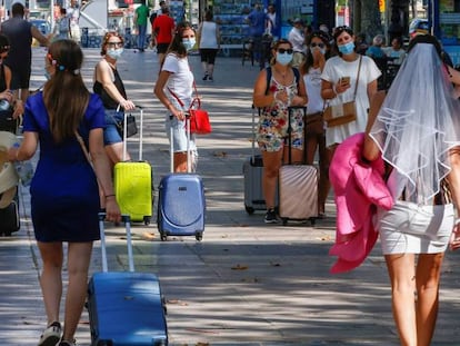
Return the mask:
{"type": "MultiPolygon", "coordinates": [[[[354,61],[346,61],[341,57],[332,57],[326,61],[324,70],[321,78],[333,85],[337,85],[339,78],[350,77],[350,88],[340,93],[338,97],[329,100],[329,105],[340,105],[353,100],[354,86],[357,83],[359,59],[354,61]]],[[[372,58],[362,56],[361,72],[359,77],[356,106],[357,120],[349,123],[329,127],[326,131],[326,145],[341,144],[348,137],[364,132],[368,122],[368,85],[380,77],[381,72],[373,62],[372,58]]]]}

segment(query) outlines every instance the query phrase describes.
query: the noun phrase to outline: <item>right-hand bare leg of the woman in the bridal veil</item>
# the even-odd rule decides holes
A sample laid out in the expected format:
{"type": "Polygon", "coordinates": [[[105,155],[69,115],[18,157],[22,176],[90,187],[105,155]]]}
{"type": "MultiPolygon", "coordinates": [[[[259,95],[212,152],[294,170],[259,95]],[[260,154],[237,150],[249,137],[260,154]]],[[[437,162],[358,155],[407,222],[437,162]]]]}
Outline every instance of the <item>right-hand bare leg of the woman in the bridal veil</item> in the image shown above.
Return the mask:
{"type": "Polygon", "coordinates": [[[439,281],[444,254],[421,254],[417,264],[417,346],[429,346],[439,307],[439,281]]]}

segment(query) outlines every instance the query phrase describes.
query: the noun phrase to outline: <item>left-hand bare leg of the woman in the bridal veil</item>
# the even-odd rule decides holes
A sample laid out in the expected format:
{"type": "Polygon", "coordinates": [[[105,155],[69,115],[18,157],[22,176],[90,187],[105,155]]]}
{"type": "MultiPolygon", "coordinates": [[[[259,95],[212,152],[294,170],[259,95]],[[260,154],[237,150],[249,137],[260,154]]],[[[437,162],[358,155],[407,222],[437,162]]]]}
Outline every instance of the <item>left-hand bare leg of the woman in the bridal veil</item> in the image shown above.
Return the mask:
{"type": "Polygon", "coordinates": [[[401,345],[419,346],[416,322],[416,255],[386,255],[384,258],[391,281],[393,317],[401,345]]]}

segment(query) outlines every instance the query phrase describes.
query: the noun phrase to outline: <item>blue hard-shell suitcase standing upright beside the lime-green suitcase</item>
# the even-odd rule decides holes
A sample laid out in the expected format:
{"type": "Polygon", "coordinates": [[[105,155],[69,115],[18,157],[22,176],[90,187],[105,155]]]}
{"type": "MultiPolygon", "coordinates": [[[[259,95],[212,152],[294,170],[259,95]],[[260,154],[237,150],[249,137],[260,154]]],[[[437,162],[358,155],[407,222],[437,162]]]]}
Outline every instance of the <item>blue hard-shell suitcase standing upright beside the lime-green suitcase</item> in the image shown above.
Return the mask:
{"type": "MultiPolygon", "coordinates": [[[[172,127],[170,136],[172,138],[172,127]]],[[[187,142],[190,144],[190,131],[187,131],[187,142]]],[[[190,172],[192,162],[189,148],[187,150],[189,172],[173,172],[172,141],[170,156],[171,174],[161,179],[158,188],[158,231],[161,240],[167,240],[168,236],[194,236],[197,240],[201,240],[206,215],[203,182],[200,176],[190,172]]]]}

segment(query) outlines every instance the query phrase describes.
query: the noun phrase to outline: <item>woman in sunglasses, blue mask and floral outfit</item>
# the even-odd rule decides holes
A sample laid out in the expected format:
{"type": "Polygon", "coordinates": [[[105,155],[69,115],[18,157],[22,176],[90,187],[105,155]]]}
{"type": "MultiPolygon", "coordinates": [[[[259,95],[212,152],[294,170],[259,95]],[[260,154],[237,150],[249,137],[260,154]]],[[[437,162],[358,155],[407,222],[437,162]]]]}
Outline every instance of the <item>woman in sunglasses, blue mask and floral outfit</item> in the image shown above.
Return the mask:
{"type": "MultiPolygon", "coordinates": [[[[291,67],[292,45],[280,39],[272,47],[271,78],[268,80],[267,69],[260,71],[252,93],[252,101],[261,109],[257,141],[262,152],[263,177],[262,189],[267,204],[266,224],[277,224],[274,195],[277,191],[278,171],[284,158],[288,158],[288,108],[304,106],[308,102],[303,78],[296,78],[291,67]]],[[[300,76],[300,73],[299,73],[300,76]]],[[[291,119],[292,162],[301,162],[303,156],[303,112],[296,111],[291,119]]]]}

